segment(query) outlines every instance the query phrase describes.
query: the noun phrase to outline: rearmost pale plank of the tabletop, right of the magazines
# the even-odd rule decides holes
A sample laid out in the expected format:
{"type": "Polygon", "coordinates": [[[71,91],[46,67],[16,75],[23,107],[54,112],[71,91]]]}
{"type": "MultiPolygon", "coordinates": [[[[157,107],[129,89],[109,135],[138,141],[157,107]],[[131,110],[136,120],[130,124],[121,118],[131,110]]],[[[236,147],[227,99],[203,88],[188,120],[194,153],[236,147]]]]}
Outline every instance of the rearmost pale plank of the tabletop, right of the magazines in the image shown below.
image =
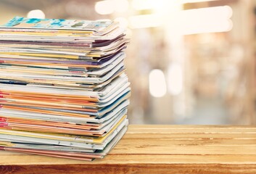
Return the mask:
{"type": "Polygon", "coordinates": [[[247,125],[131,125],[125,138],[256,138],[256,126],[247,125]]]}

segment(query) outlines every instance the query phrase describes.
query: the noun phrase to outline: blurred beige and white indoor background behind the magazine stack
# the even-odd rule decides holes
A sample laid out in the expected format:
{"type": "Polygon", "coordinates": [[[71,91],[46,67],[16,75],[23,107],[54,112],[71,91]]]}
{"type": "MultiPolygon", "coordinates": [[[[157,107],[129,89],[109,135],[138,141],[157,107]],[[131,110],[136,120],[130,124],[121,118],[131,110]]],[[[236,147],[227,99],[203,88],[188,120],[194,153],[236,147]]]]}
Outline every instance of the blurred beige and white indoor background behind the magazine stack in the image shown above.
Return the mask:
{"type": "Polygon", "coordinates": [[[256,0],[0,0],[15,16],[120,22],[131,124],[256,124],[256,0]]]}

